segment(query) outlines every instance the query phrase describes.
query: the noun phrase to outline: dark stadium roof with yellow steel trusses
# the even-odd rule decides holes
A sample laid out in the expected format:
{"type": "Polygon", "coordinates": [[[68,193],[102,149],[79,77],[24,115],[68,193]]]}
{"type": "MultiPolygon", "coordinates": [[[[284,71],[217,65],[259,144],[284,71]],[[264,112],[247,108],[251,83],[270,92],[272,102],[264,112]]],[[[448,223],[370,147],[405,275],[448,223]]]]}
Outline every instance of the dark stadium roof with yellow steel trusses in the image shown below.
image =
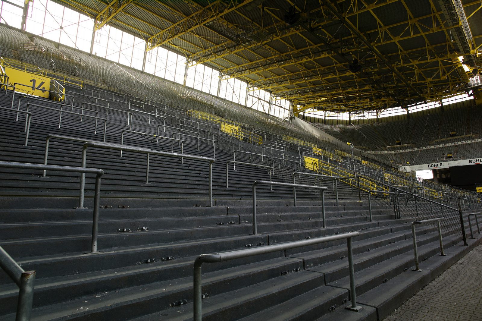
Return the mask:
{"type": "Polygon", "coordinates": [[[481,0],[57,1],[298,112],[406,107],[467,91],[459,56],[482,65],[481,0]]]}

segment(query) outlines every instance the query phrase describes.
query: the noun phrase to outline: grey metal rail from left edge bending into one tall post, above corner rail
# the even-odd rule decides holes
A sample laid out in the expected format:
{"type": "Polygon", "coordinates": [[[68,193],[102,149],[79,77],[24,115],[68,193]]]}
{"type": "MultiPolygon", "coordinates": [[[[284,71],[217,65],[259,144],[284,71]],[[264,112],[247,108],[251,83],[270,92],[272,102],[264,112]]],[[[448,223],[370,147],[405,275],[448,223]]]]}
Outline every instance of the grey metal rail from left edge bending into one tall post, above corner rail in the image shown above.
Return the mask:
{"type": "Polygon", "coordinates": [[[80,173],[84,177],[84,182],[80,183],[80,194],[82,199],[79,200],[79,208],[83,207],[83,195],[85,188],[85,174],[95,174],[95,192],[94,192],[94,216],[92,219],[92,241],[91,241],[91,253],[97,252],[97,233],[99,225],[99,207],[100,207],[100,183],[104,171],[97,168],[73,167],[73,166],[57,166],[57,165],[44,165],[44,164],[31,164],[31,163],[16,163],[10,161],[0,161],[1,168],[19,168],[19,169],[35,169],[35,170],[49,170],[58,172],[72,172],[80,173]]]}

